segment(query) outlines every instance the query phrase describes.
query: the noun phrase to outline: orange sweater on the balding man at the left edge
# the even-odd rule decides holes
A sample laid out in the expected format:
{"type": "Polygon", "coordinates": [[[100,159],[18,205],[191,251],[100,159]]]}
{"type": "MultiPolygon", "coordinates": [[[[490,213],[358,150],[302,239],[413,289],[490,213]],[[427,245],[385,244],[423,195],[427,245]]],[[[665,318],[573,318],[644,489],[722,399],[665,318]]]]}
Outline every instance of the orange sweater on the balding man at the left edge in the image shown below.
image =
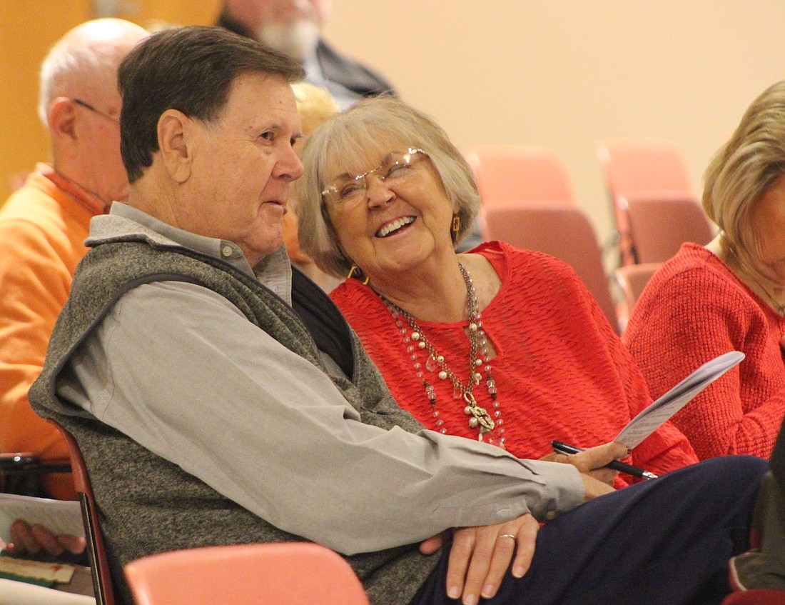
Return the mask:
{"type": "MultiPolygon", "coordinates": [[[[89,220],[104,203],[70,181],[59,182],[39,164],[24,187],[0,209],[0,451],[68,458],[52,424],[37,416],[27,390],[41,372],[49,334],[87,252],[89,220]]],[[[71,478],[53,475],[45,485],[57,497],[75,497],[71,478]]]]}

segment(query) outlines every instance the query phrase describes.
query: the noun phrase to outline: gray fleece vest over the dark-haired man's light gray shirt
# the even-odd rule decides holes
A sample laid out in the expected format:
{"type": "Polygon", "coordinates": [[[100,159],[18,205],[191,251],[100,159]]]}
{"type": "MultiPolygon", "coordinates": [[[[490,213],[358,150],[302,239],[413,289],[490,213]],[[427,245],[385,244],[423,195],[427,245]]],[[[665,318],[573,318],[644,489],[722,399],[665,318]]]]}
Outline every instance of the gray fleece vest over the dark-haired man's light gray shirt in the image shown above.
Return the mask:
{"type": "MultiPolygon", "coordinates": [[[[154,281],[186,281],[210,288],[234,304],[248,321],[324,370],[315,343],[290,306],[224,262],[185,249],[158,248],[139,237],[118,238],[89,251],[75,274],[30,401],[38,414],[57,420],[79,443],[93,483],[115,590],[129,605],[132,601],[122,566],[138,557],[198,546],[302,540],[55,395],[57,375],[75,347],[124,292],[154,281]]],[[[331,304],[329,299],[326,303],[331,304]]],[[[334,378],[335,385],[360,412],[363,422],[417,431],[419,424],[393,401],[353,332],[352,339],[353,381],[334,378]]],[[[412,545],[346,559],[374,605],[400,605],[413,598],[438,557],[422,556],[417,545],[412,545]]]]}

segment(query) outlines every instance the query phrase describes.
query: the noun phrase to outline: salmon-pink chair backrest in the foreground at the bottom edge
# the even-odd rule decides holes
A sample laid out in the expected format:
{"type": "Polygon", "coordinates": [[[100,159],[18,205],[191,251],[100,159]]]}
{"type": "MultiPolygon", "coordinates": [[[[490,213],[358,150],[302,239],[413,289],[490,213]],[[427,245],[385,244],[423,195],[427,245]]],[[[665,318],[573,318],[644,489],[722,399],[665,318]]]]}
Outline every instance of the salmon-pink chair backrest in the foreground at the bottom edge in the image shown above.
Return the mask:
{"type": "Polygon", "coordinates": [[[312,542],[162,552],[125,574],[137,605],[368,605],[349,563],[312,542]]]}

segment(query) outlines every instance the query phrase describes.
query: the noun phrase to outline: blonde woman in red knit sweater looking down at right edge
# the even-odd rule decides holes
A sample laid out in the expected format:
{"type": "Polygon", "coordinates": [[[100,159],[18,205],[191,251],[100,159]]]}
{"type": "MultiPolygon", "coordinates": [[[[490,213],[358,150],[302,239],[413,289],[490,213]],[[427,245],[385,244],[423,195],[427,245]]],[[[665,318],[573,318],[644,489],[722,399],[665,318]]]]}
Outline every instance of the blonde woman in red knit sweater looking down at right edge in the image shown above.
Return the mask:
{"type": "Polygon", "coordinates": [[[706,172],[720,232],[652,277],[623,336],[662,394],[728,350],[747,358],[674,416],[700,458],[768,458],[785,415],[785,82],[765,90],[706,172]]]}

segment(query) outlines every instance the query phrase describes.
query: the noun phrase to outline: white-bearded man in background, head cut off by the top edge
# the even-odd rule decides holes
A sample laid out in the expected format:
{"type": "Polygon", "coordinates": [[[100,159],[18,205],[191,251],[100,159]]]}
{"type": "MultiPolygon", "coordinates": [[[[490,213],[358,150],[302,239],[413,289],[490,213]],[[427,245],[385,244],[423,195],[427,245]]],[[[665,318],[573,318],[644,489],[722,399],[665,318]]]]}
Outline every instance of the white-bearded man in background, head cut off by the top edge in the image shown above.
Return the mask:
{"type": "Polygon", "coordinates": [[[305,80],[330,91],[338,107],[393,92],[381,75],[337,53],[321,37],[330,0],[225,0],[218,25],[254,38],[305,68],[305,80]]]}

